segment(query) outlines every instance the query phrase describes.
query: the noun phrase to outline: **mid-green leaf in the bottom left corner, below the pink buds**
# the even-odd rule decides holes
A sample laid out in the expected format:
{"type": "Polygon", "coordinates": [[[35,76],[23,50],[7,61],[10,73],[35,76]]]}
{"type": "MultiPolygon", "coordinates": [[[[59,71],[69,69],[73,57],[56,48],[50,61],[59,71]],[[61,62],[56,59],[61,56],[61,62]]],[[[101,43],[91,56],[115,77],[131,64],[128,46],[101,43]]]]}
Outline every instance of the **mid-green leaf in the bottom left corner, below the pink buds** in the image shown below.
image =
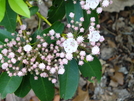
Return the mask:
{"type": "Polygon", "coordinates": [[[5,98],[8,93],[15,92],[19,87],[21,81],[22,77],[9,77],[6,72],[2,73],[2,75],[0,76],[0,93],[2,99],[5,98]]]}

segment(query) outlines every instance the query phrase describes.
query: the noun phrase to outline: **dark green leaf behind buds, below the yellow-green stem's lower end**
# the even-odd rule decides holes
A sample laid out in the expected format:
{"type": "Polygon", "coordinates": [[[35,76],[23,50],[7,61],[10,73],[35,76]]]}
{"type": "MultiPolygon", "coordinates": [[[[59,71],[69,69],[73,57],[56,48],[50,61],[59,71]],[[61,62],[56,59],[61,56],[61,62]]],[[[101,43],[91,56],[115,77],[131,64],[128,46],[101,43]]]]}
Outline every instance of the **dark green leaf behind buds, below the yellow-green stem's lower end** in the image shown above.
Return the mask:
{"type": "MultiPolygon", "coordinates": [[[[59,22],[59,21],[57,21],[57,22],[55,22],[51,27],[49,27],[49,28],[43,30],[42,33],[41,33],[41,35],[47,34],[51,29],[54,29],[54,31],[55,31],[56,33],[62,33],[63,30],[64,30],[64,24],[61,23],[61,22],[59,22]]],[[[55,42],[55,40],[51,40],[50,37],[45,37],[45,40],[46,40],[46,42],[48,42],[49,44],[55,42]]]]}

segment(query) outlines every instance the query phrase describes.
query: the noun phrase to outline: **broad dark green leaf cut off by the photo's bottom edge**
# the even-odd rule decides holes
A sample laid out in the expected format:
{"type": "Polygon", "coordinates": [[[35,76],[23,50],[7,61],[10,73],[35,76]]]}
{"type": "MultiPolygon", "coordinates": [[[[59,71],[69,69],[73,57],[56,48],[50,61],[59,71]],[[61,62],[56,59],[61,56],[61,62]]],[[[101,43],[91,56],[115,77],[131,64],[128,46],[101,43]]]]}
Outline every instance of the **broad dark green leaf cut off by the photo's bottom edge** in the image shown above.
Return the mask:
{"type": "Polygon", "coordinates": [[[38,80],[34,80],[34,76],[31,75],[30,84],[34,93],[41,101],[52,101],[54,98],[54,84],[48,78],[39,76],[38,80]]]}

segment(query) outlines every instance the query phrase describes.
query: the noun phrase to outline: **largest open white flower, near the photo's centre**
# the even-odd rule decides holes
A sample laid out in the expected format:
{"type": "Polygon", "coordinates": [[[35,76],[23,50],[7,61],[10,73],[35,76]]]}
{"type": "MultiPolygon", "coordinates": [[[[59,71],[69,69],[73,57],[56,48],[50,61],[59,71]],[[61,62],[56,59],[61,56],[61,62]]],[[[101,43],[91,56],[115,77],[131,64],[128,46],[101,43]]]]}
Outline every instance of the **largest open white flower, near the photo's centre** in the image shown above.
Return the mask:
{"type": "Polygon", "coordinates": [[[63,47],[67,53],[73,53],[77,51],[78,43],[73,38],[68,38],[63,42],[63,47]]]}

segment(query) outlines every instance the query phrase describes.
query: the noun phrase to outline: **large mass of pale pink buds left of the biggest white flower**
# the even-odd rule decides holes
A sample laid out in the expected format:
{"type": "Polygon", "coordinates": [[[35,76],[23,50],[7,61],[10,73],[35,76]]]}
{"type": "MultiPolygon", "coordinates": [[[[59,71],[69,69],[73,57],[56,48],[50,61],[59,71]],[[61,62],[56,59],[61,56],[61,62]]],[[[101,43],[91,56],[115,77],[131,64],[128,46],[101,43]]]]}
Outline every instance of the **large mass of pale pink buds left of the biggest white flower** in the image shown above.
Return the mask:
{"type": "MultiPolygon", "coordinates": [[[[31,44],[32,38],[29,32],[25,32],[25,26],[21,26],[19,33],[12,33],[14,39],[5,39],[4,45],[0,45],[0,60],[2,69],[6,70],[9,76],[24,76],[28,72],[35,75],[34,79],[41,77],[49,77],[53,83],[56,82],[52,78],[54,74],[64,73],[64,64],[68,63],[64,52],[61,52],[61,43],[65,40],[59,33],[50,30],[43,36],[37,35],[35,43],[31,44]],[[23,33],[24,32],[24,33],[23,33]],[[55,44],[49,44],[44,37],[57,40],[55,44]]],[[[68,57],[68,55],[66,56],[68,57]]]]}

